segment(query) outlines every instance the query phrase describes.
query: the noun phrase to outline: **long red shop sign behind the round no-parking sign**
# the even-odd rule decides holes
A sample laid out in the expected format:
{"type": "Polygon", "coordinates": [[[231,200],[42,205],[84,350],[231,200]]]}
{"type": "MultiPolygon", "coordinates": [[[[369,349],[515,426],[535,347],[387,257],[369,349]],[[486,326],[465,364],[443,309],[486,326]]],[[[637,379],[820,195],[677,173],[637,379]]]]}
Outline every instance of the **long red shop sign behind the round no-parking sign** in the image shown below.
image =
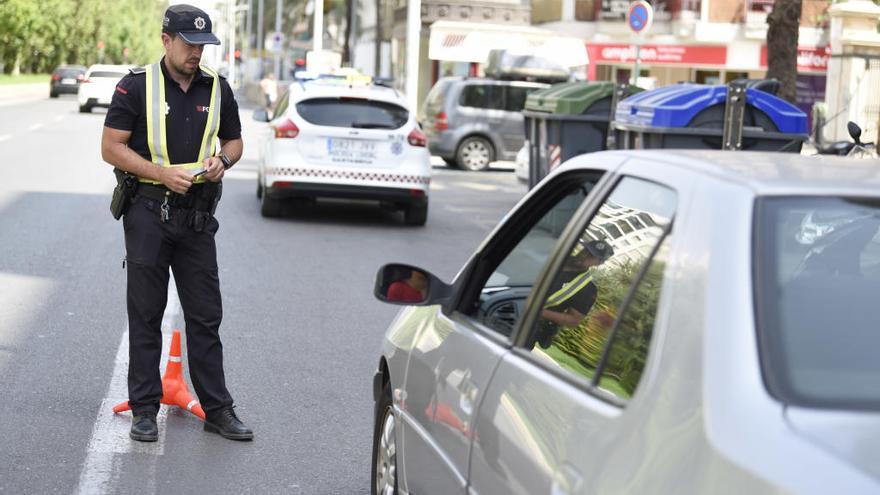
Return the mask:
{"type": "MultiPolygon", "coordinates": [[[[627,63],[636,58],[635,45],[587,44],[590,62],[627,63]]],[[[726,46],[642,45],[639,52],[644,64],[725,65],[726,46]]]]}

